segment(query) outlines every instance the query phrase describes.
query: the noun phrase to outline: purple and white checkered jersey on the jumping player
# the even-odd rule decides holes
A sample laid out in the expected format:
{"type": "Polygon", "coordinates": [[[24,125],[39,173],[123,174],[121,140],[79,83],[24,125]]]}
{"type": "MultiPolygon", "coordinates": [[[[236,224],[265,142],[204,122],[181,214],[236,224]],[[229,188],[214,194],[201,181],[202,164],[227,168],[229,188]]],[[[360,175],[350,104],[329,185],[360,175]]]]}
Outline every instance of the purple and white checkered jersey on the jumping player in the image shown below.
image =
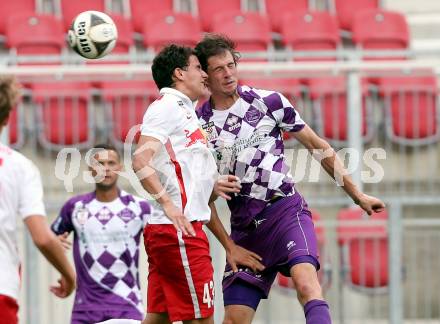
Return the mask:
{"type": "Polygon", "coordinates": [[[215,150],[219,173],[241,179],[240,193],[228,204],[232,226],[244,227],[275,196],[294,194],[282,132],[297,132],[305,124],[278,92],[239,86],[238,94],[229,109],[215,110],[208,101],[197,115],[215,150]]]}

